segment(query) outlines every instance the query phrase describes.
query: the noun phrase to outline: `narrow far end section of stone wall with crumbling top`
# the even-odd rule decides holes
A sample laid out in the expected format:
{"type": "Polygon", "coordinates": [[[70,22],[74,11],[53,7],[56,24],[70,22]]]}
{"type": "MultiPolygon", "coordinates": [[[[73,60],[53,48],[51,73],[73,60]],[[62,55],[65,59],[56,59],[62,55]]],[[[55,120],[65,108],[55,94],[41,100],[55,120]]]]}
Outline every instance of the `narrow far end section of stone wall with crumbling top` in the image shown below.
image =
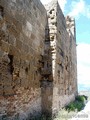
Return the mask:
{"type": "MultiPolygon", "coordinates": [[[[77,95],[77,54],[76,54],[76,29],[75,29],[75,20],[66,17],[66,26],[70,39],[70,68],[71,68],[71,83],[72,93],[77,95]]],[[[71,92],[70,92],[71,93],[71,92]]]]}

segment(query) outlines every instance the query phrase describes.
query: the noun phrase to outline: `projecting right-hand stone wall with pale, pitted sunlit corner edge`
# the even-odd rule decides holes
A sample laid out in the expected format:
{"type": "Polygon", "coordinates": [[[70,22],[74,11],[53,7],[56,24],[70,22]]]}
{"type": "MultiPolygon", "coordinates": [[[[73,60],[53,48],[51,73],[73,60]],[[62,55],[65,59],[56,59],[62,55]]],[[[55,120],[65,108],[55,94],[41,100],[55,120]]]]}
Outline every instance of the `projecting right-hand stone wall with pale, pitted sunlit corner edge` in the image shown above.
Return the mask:
{"type": "Polygon", "coordinates": [[[77,92],[75,24],[67,30],[66,19],[57,1],[52,1],[46,9],[52,53],[52,114],[55,114],[74,100],[77,92]]]}

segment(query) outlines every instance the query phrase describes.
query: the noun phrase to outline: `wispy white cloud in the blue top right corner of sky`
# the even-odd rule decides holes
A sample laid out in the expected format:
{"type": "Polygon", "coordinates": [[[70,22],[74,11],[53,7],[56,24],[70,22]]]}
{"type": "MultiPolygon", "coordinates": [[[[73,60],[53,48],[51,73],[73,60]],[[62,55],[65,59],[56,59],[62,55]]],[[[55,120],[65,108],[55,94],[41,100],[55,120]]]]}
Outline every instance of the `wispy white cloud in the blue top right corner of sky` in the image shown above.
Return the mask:
{"type": "Polygon", "coordinates": [[[79,18],[80,15],[84,15],[87,18],[90,18],[90,5],[88,5],[85,0],[73,0],[69,15],[76,18],[79,18]]]}

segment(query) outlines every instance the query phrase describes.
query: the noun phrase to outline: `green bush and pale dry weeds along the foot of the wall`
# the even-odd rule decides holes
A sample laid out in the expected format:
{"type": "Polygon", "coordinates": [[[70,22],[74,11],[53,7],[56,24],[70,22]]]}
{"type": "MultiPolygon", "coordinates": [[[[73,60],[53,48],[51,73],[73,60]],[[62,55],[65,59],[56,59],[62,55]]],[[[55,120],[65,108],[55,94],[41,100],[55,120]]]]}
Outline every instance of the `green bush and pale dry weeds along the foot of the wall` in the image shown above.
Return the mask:
{"type": "MultiPolygon", "coordinates": [[[[75,98],[75,101],[71,102],[65,108],[61,109],[56,118],[53,120],[70,120],[71,118],[75,117],[78,111],[81,111],[84,108],[86,100],[87,96],[78,95],[75,98]]],[[[45,115],[42,115],[37,120],[52,120],[52,118],[50,117],[47,118],[45,115]]]]}

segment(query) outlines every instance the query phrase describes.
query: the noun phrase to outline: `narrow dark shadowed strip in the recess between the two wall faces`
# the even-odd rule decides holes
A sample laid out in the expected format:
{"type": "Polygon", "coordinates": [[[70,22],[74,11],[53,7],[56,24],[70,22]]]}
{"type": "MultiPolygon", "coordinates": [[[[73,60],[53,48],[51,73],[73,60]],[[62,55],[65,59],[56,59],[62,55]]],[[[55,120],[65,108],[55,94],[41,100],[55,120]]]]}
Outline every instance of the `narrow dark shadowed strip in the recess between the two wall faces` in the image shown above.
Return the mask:
{"type": "Polygon", "coordinates": [[[42,58],[43,68],[41,70],[41,98],[42,114],[52,117],[52,99],[53,99],[53,77],[52,77],[52,54],[50,51],[50,35],[48,22],[45,29],[45,50],[42,58]]]}

